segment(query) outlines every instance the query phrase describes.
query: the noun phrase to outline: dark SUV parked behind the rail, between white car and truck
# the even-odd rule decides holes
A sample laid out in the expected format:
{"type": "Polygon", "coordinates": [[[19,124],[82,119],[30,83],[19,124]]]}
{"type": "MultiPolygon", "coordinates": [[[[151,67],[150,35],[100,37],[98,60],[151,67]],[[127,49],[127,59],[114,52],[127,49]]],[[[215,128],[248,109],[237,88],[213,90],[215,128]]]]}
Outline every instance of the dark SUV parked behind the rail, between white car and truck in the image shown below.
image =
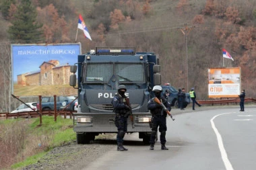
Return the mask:
{"type": "MultiPolygon", "coordinates": [[[[75,110],[75,103],[77,103],[77,100],[73,101],[74,99],[74,96],[57,96],[57,110],[63,110],[67,105],[69,105],[69,103],[70,105],[65,110],[75,110]]],[[[54,110],[54,97],[42,97],[41,103],[42,111],[54,110]]],[[[39,110],[39,102],[36,104],[36,108],[39,110]]]]}

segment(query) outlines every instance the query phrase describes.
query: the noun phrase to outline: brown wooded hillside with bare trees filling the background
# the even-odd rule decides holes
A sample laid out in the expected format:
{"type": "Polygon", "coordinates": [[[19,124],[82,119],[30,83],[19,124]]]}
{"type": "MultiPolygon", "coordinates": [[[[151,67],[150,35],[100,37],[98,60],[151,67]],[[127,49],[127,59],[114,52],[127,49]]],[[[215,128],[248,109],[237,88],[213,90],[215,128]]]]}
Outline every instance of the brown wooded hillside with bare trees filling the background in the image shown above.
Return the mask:
{"type": "Polygon", "coordinates": [[[242,89],[256,96],[255,0],[1,0],[0,10],[0,112],[13,102],[11,44],[135,46],[159,55],[162,84],[188,83],[198,99],[207,99],[207,69],[241,67],[242,89]],[[92,41],[77,32],[79,14],[92,41]]]}

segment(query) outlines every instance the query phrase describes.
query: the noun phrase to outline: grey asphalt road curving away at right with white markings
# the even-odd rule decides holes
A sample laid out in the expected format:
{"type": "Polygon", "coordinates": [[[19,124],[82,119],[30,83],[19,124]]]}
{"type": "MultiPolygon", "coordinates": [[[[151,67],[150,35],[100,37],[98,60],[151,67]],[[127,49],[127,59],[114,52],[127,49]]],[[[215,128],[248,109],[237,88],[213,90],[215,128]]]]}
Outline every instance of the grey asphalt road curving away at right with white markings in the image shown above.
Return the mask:
{"type": "Polygon", "coordinates": [[[138,134],[126,134],[129,151],[113,149],[86,169],[256,169],[255,106],[245,112],[238,106],[187,110],[173,110],[174,122],[168,118],[168,151],[161,151],[159,140],[150,151],[138,134]]]}

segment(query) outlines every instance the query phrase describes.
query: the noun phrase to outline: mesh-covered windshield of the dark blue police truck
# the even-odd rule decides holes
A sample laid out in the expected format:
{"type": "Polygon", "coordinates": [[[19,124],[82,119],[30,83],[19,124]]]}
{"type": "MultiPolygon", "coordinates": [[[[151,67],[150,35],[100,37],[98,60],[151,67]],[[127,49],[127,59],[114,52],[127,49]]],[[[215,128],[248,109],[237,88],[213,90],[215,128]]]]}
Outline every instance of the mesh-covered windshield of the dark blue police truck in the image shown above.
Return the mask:
{"type": "Polygon", "coordinates": [[[113,75],[121,83],[144,83],[145,72],[143,63],[92,63],[89,62],[84,70],[86,82],[106,83],[113,75]]]}

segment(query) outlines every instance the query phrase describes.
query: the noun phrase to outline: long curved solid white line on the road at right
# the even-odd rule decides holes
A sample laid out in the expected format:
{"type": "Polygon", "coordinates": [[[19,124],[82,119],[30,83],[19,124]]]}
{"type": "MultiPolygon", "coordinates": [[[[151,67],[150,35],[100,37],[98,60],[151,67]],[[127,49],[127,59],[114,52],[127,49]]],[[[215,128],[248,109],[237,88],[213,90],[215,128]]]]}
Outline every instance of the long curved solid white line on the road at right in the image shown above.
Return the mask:
{"type": "MultiPolygon", "coordinates": [[[[226,113],[226,114],[233,114],[233,113],[226,113]]],[[[218,140],[218,146],[219,146],[219,149],[220,149],[220,154],[222,155],[222,161],[226,167],[227,170],[233,170],[233,167],[228,159],[228,155],[226,154],[226,150],[224,148],[224,144],[222,142],[222,136],[220,135],[218,129],[216,128],[215,124],[214,124],[214,119],[217,118],[218,116],[222,116],[224,114],[218,114],[216,116],[214,116],[212,119],[211,119],[211,124],[212,124],[212,128],[214,129],[214,132],[217,136],[217,140],[218,140]]]]}

